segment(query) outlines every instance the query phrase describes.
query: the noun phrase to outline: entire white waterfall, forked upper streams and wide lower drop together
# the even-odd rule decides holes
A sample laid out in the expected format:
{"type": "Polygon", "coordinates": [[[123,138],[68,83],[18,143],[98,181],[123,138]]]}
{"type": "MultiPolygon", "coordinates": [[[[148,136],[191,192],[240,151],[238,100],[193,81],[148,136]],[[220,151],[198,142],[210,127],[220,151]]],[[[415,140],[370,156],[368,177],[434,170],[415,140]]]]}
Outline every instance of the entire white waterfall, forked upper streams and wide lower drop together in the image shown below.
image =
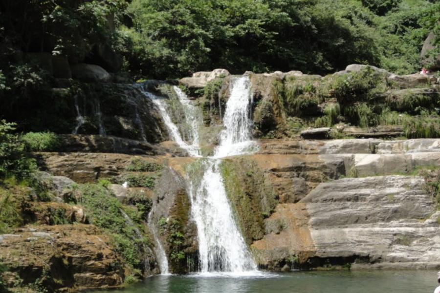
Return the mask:
{"type": "MultiPolygon", "coordinates": [[[[158,107],[172,139],[191,156],[200,157],[197,109],[180,89],[174,87],[174,90],[185,110],[186,123],[191,128],[191,144],[182,139],[178,127],[167,113],[165,101],[146,90],[143,93],[158,107]]],[[[197,224],[199,267],[202,273],[236,274],[257,271],[257,265],[235,223],[220,173],[222,157],[247,154],[257,149],[251,133],[251,103],[249,78],[234,78],[224,109],[224,129],[220,133],[220,145],[215,149],[214,156],[203,159],[202,178],[189,180],[191,214],[197,224]]],[[[156,235],[154,237],[158,247],[161,247],[156,235]]],[[[166,259],[166,254],[163,248],[159,250],[158,258],[162,262],[164,257],[166,259]]],[[[162,267],[161,272],[164,273],[162,267]]]]}

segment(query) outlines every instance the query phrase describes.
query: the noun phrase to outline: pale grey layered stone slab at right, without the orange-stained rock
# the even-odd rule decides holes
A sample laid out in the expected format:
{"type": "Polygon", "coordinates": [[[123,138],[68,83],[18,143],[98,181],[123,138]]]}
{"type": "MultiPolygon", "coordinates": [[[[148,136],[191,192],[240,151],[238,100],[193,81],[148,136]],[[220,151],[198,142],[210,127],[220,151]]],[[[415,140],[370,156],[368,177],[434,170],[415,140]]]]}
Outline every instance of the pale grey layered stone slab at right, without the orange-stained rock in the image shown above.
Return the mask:
{"type": "Polygon", "coordinates": [[[440,253],[439,223],[419,220],[435,212],[422,184],[422,178],[411,176],[321,184],[301,201],[315,256],[354,257],[358,266],[439,268],[432,257],[440,253]]]}

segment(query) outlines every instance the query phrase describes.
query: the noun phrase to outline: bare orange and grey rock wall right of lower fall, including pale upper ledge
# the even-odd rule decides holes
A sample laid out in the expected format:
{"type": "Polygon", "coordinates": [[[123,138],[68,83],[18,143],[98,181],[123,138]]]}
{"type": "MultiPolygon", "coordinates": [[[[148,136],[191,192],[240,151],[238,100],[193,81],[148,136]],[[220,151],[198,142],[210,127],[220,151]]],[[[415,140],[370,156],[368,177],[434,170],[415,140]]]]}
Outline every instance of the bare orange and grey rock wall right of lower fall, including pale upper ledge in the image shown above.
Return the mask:
{"type": "Polygon", "coordinates": [[[425,181],[387,175],[440,166],[439,146],[440,139],[262,141],[262,154],[251,157],[280,204],[251,245],[258,263],[270,270],[440,268],[440,212],[425,181]]]}

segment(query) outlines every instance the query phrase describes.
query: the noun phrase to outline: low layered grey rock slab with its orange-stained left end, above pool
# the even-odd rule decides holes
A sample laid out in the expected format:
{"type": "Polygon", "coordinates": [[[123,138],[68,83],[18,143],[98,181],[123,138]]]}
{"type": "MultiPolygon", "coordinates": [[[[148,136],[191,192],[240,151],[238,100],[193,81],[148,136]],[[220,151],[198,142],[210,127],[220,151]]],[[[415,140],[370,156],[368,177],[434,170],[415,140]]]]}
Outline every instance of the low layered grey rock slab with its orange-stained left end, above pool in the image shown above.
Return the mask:
{"type": "Polygon", "coordinates": [[[393,175],[321,183],[298,204],[277,207],[266,227],[278,230],[251,248],[270,269],[438,269],[440,225],[423,182],[393,175]]]}

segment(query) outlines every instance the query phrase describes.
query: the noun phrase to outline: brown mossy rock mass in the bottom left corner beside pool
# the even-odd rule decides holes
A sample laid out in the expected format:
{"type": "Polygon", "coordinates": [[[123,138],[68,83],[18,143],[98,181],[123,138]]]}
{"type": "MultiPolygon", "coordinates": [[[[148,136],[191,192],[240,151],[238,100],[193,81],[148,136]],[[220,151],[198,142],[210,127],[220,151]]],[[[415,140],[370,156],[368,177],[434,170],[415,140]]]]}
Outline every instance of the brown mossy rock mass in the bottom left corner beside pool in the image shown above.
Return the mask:
{"type": "Polygon", "coordinates": [[[122,285],[124,268],[108,237],[92,225],[27,226],[0,240],[0,261],[51,291],[122,285]],[[32,251],[32,253],[29,253],[32,251]]]}

